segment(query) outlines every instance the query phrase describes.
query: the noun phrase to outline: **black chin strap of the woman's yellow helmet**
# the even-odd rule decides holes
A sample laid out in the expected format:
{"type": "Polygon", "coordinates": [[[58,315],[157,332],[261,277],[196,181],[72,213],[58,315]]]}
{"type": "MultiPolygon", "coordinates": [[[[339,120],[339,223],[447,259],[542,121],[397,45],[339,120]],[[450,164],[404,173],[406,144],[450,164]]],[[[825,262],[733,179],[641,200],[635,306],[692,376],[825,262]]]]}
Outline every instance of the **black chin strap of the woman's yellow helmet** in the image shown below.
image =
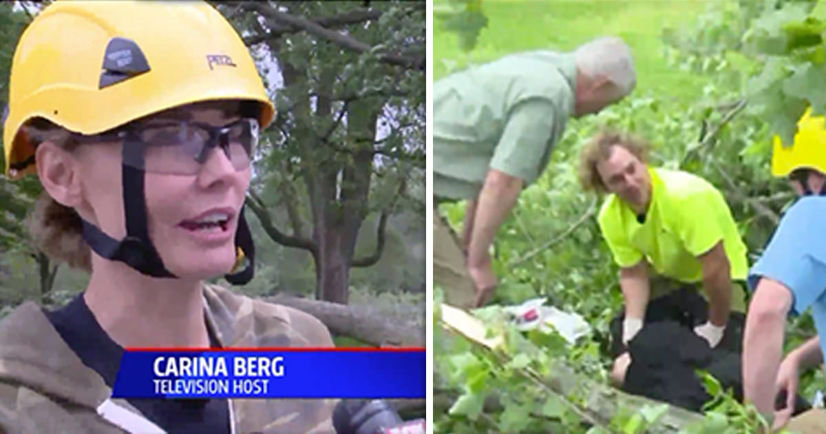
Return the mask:
{"type": "MultiPolygon", "coordinates": [[[[141,274],[156,278],[172,278],[177,276],[170,273],[164,261],[160,259],[158,250],[150,241],[146,217],[145,198],[145,143],[135,136],[127,136],[123,143],[121,158],[121,184],[123,186],[123,205],[126,217],[126,238],[116,241],[101,231],[92,223],[81,218],[83,222],[83,240],[92,250],[107,260],[121,261],[141,274]],[[127,164],[128,162],[128,164],[127,164]]],[[[238,228],[235,231],[235,250],[240,248],[244,252],[247,266],[235,274],[225,274],[230,284],[243,285],[249,282],[254,275],[255,248],[252,234],[244,218],[244,207],[241,207],[238,219],[238,228]]]]}

